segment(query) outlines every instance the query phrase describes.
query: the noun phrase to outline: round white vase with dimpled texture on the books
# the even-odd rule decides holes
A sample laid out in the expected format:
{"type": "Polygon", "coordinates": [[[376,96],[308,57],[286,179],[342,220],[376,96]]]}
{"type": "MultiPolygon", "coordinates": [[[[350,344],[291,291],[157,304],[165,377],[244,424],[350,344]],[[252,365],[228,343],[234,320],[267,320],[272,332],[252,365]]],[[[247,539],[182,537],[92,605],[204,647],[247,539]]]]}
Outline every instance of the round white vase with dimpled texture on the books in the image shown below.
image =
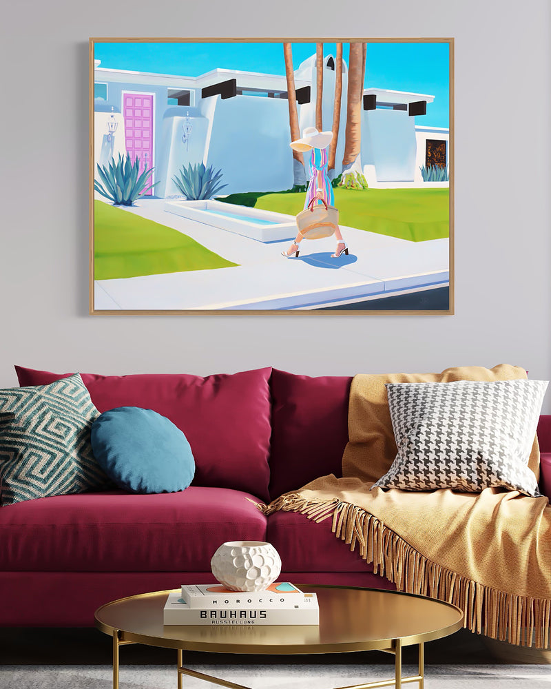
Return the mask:
{"type": "Polygon", "coordinates": [[[229,541],[211,559],[216,579],[232,591],[263,591],[281,572],[281,558],[271,543],[229,541]]]}

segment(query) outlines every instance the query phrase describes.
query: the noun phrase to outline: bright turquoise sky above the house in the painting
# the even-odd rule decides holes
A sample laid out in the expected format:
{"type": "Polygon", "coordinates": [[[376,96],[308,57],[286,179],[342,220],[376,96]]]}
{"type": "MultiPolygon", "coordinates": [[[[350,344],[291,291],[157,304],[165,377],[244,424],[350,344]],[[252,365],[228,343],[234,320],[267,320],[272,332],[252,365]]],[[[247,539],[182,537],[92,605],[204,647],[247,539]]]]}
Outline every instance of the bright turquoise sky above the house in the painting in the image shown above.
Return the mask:
{"type": "MultiPolygon", "coordinates": [[[[119,70],[198,76],[216,68],[284,74],[281,43],[95,43],[101,66],[119,70]]],[[[315,53],[315,43],[293,43],[293,66],[315,53]]],[[[348,61],[348,45],[344,59],[348,61]]],[[[335,43],[324,43],[335,55],[335,43]]],[[[449,127],[449,44],[368,43],[367,87],[435,96],[417,124],[449,127]]]]}

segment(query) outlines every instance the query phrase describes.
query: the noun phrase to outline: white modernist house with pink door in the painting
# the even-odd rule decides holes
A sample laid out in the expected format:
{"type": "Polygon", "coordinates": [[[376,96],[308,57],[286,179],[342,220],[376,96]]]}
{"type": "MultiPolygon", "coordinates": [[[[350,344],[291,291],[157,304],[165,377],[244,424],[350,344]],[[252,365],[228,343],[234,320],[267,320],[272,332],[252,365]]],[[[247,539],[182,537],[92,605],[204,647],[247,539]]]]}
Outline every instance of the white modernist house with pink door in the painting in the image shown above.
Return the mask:
{"type": "MultiPolygon", "coordinates": [[[[346,130],[343,62],[335,175],[346,130]]],[[[295,70],[300,130],[315,125],[315,55],[295,70]]],[[[324,58],[324,130],[333,122],[335,58],[324,58]]],[[[449,130],[415,124],[434,100],[427,94],[364,90],[361,165],[371,186],[422,186],[419,168],[448,163],[449,130]]],[[[284,75],[212,70],[200,76],[94,69],[94,155],[105,165],[128,152],[154,167],[154,195],[181,196],[172,181],[188,163],[222,169],[222,193],[266,192],[293,185],[289,101],[284,75]]],[[[307,158],[306,157],[306,163],[307,158]]]]}

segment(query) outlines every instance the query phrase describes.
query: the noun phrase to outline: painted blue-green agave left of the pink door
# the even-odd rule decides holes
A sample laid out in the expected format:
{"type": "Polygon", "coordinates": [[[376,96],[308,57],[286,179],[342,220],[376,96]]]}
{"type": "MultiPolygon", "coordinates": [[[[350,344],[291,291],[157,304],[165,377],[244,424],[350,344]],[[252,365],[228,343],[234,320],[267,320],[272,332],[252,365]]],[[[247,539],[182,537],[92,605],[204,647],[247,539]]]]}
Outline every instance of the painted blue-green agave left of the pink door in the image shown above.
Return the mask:
{"type": "Polygon", "coordinates": [[[111,158],[109,165],[98,165],[99,180],[94,179],[96,192],[112,200],[116,206],[132,206],[136,198],[143,196],[155,184],[149,184],[153,168],[140,174],[140,159],[134,163],[129,155],[118,154],[118,161],[111,158]]]}

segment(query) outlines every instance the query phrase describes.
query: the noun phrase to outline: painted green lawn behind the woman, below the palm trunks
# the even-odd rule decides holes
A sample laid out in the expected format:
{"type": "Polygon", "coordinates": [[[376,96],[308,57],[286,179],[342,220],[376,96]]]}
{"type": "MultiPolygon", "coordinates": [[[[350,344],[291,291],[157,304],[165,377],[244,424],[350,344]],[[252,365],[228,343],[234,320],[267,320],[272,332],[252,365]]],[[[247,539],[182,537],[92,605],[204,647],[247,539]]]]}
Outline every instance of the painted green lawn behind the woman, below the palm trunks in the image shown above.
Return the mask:
{"type": "MultiPolygon", "coordinates": [[[[341,225],[422,242],[450,234],[448,189],[366,189],[337,187],[335,206],[341,225]]],[[[231,194],[220,201],[296,215],[304,207],[304,192],[231,194]]]]}

